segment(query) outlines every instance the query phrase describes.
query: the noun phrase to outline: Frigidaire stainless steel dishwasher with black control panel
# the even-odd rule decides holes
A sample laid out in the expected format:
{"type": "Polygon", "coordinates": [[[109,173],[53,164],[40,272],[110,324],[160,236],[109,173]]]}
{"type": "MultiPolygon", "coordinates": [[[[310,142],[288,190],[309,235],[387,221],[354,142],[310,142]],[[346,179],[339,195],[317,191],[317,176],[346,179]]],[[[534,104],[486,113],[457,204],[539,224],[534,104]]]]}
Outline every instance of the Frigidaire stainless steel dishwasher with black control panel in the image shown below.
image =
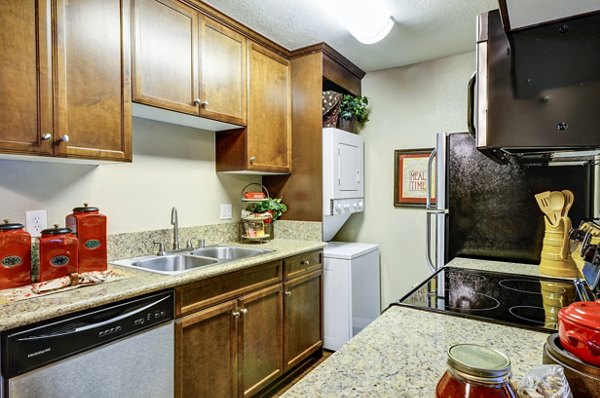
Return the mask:
{"type": "Polygon", "coordinates": [[[161,292],[2,333],[2,397],[174,395],[174,299],[161,292]]]}

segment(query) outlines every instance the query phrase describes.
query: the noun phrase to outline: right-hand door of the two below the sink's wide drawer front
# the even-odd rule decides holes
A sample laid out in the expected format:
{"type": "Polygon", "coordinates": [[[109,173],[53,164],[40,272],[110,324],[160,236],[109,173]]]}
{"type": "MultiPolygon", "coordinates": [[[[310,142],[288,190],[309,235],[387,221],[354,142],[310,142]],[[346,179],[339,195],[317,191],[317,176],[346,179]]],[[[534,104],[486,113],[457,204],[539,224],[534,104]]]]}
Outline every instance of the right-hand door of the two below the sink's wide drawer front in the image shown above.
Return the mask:
{"type": "Polygon", "coordinates": [[[243,296],[240,396],[252,396],[283,372],[281,284],[243,296]]]}

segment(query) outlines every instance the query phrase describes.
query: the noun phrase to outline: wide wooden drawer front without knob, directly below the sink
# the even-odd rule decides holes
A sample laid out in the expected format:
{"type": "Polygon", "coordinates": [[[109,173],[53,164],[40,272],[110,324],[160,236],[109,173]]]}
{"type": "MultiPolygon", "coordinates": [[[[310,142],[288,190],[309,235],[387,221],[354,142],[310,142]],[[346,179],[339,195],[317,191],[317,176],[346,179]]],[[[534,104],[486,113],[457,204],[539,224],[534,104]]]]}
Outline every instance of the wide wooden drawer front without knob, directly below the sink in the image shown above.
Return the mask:
{"type": "Polygon", "coordinates": [[[281,282],[281,261],[215,276],[176,288],[177,316],[281,282]]]}

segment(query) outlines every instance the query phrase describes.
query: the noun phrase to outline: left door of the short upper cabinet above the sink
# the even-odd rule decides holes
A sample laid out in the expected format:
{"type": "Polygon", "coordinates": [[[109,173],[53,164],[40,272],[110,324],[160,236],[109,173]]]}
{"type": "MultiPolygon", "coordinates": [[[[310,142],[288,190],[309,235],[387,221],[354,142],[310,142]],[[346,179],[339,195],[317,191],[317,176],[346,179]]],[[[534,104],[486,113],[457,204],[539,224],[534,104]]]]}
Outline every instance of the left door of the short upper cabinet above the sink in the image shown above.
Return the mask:
{"type": "Polygon", "coordinates": [[[178,1],[134,0],[134,101],[198,114],[198,20],[178,1]]]}

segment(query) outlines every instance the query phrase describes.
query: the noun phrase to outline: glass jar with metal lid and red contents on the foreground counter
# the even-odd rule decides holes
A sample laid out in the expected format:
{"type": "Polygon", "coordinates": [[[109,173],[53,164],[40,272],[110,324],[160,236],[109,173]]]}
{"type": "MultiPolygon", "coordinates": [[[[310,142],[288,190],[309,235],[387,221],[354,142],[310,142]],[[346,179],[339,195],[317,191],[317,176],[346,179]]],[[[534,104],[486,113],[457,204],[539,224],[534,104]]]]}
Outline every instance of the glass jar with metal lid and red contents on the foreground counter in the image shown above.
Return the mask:
{"type": "Polygon", "coordinates": [[[435,390],[436,398],[516,398],[510,385],[510,360],[499,351],[476,344],[448,349],[448,370],[435,390]]]}

